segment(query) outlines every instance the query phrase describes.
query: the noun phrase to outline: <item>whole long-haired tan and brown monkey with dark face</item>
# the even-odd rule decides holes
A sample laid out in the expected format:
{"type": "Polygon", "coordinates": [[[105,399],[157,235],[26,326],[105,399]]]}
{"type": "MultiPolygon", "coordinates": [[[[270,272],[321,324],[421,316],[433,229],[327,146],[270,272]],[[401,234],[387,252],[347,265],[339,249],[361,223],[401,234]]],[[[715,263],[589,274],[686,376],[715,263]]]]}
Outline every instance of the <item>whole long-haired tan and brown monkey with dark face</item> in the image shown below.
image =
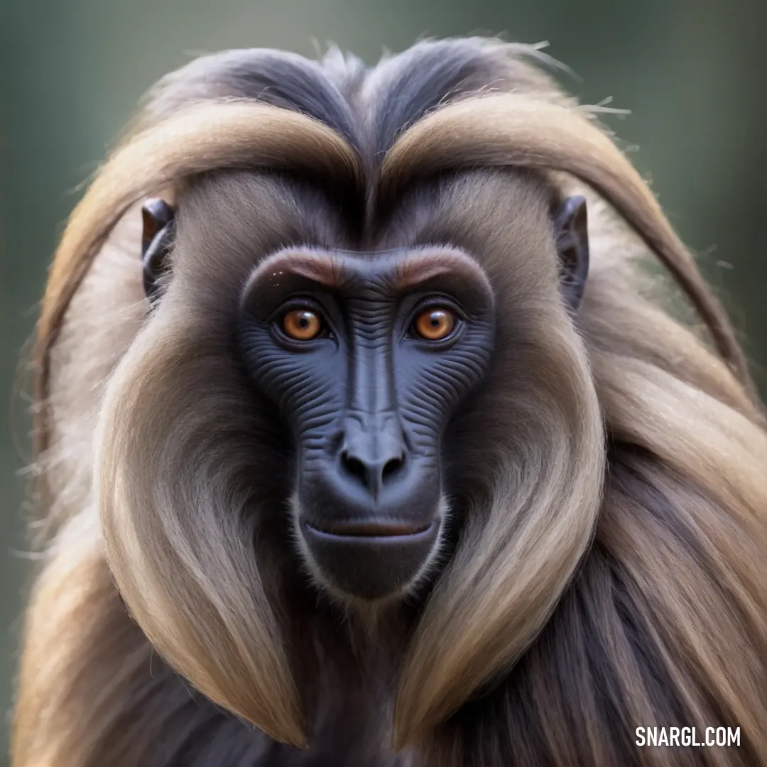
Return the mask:
{"type": "Polygon", "coordinates": [[[767,765],[764,407],[552,66],[150,91],[41,304],[13,767],[767,765]]]}

